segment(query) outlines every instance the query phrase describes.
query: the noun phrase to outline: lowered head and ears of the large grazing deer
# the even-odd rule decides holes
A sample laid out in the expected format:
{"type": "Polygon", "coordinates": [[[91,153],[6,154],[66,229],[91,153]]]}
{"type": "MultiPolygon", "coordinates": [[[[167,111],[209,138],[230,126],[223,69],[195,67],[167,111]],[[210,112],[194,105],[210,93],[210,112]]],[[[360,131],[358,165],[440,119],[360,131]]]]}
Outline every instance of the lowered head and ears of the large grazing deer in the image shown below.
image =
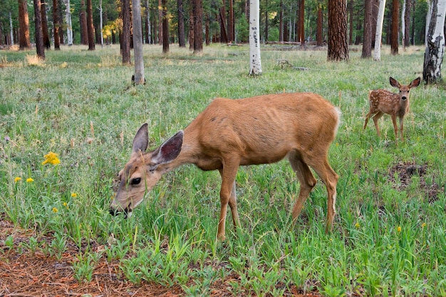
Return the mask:
{"type": "Polygon", "coordinates": [[[110,205],[110,214],[117,215],[124,212],[130,217],[132,211],[144,199],[145,193],[150,192],[162,176],[158,170],[161,164],[169,163],[177,158],[181,151],[183,132],[167,139],[155,151],[145,152],[148,146],[147,124],[143,124],[133,139],[133,150],[130,161],[119,172],[119,188],[110,205]]]}

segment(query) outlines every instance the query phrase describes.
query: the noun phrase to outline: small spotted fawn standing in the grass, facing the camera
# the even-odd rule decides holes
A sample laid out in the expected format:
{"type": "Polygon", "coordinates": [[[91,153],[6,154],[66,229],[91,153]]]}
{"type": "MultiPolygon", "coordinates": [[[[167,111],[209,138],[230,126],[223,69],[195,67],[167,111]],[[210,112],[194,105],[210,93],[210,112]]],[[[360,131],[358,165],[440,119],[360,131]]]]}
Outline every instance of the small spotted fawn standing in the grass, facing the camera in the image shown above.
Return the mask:
{"type": "Polygon", "coordinates": [[[400,119],[400,133],[401,141],[403,138],[403,119],[405,114],[409,111],[409,91],[413,87],[420,85],[420,77],[415,78],[409,85],[401,85],[393,77],[390,77],[390,85],[397,87],[400,92],[393,94],[387,90],[371,90],[368,91],[368,101],[370,103],[370,111],[365,116],[364,129],[367,126],[368,119],[373,116],[373,123],[375,123],[378,136],[381,136],[380,129],[378,127],[378,120],[383,117],[383,114],[390,114],[393,122],[393,130],[395,131],[395,142],[398,141],[398,126],[396,125],[396,117],[400,119]]]}

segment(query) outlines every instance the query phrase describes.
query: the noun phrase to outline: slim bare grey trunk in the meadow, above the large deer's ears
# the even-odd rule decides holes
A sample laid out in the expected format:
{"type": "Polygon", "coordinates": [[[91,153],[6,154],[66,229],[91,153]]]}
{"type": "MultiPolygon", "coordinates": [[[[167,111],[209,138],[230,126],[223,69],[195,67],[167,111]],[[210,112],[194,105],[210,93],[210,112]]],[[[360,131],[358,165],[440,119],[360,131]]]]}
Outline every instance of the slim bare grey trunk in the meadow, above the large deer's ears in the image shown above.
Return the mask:
{"type": "Polygon", "coordinates": [[[141,26],[141,2],[132,0],[133,8],[133,53],[135,55],[135,79],[136,85],[144,84],[144,60],[142,58],[142,26],[141,26]]]}

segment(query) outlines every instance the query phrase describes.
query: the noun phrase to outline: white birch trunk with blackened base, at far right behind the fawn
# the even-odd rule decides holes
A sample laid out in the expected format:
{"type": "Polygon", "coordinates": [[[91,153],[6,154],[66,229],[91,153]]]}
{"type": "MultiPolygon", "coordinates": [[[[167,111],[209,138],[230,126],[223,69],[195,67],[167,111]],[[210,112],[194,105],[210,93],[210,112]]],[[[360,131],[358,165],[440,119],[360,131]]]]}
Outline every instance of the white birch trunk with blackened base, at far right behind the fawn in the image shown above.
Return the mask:
{"type": "Polygon", "coordinates": [[[427,84],[442,80],[441,65],[445,53],[446,0],[432,0],[431,6],[432,14],[427,32],[425,62],[422,67],[422,78],[427,84]]]}

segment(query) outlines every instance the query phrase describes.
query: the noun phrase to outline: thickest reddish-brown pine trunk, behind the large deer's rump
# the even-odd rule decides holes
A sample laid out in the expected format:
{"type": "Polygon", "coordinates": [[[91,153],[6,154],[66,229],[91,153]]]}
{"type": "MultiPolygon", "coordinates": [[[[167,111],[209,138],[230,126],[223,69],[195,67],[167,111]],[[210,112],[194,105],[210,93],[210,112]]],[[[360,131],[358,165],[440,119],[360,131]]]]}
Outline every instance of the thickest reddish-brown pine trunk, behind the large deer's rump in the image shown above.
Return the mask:
{"type": "Polygon", "coordinates": [[[348,60],[346,1],[328,0],[327,60],[348,60]]]}

